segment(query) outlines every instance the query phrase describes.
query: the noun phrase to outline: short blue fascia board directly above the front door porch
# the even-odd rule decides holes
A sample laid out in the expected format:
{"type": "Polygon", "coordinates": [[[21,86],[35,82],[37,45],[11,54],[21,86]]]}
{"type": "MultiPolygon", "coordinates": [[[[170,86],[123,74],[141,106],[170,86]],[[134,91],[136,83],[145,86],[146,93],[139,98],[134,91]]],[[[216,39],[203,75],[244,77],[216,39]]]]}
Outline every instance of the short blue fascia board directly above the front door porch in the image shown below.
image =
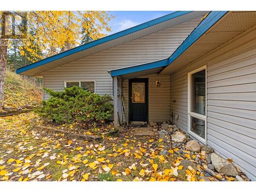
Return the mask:
{"type": "Polygon", "coordinates": [[[168,66],[168,58],[111,71],[111,77],[168,66]]]}

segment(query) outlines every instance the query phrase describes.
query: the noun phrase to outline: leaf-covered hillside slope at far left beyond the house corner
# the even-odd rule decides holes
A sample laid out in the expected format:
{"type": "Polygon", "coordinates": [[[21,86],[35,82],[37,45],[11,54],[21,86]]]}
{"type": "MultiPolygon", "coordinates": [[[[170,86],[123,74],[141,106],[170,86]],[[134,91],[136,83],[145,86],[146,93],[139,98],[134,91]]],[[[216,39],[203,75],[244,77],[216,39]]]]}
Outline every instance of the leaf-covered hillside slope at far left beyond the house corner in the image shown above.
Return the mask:
{"type": "Polygon", "coordinates": [[[30,79],[13,72],[6,72],[5,107],[25,108],[38,106],[42,100],[41,87],[30,79]]]}

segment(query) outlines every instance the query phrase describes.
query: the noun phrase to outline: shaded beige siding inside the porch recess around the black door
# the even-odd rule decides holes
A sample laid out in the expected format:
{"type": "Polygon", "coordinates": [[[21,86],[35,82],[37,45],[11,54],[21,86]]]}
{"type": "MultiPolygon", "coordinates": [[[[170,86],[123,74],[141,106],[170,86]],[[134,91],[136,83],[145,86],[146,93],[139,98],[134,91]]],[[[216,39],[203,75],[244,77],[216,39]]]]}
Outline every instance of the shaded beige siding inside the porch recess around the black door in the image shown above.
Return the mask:
{"type": "MultiPolygon", "coordinates": [[[[138,77],[139,78],[139,77],[138,77]]],[[[148,78],[148,121],[163,122],[170,120],[170,76],[149,75],[140,78],[148,78]],[[161,81],[161,86],[156,86],[156,81],[161,81]]],[[[124,79],[123,99],[126,111],[129,109],[129,80],[124,79]]],[[[125,115],[123,113],[123,121],[125,115]]]]}

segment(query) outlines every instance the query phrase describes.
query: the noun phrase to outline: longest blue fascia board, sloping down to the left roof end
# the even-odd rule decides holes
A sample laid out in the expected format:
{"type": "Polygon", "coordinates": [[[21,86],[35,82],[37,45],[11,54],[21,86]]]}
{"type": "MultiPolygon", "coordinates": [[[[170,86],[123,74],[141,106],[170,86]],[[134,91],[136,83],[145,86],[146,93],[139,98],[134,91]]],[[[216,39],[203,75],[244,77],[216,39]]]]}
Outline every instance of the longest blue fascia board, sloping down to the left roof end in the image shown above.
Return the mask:
{"type": "Polygon", "coordinates": [[[173,19],[175,17],[181,16],[181,15],[185,15],[185,14],[190,13],[190,12],[192,12],[192,11],[176,11],[174,13],[170,13],[168,15],[164,15],[162,17],[150,20],[149,22],[137,25],[135,27],[132,27],[132,28],[129,28],[129,29],[117,32],[117,33],[114,33],[114,34],[109,35],[109,36],[105,36],[105,37],[97,39],[97,40],[94,40],[92,42],[89,42],[88,44],[84,44],[84,45],[78,46],[76,48],[70,49],[68,51],[65,51],[65,52],[53,55],[51,57],[39,60],[37,62],[34,62],[34,63],[30,64],[30,65],[27,65],[27,66],[24,66],[22,68],[17,69],[16,73],[20,74],[22,72],[25,72],[25,71],[34,69],[36,67],[45,65],[46,63],[55,61],[57,59],[60,59],[60,58],[72,55],[72,54],[80,52],[80,51],[87,50],[89,48],[92,48],[92,47],[95,47],[97,45],[103,44],[104,42],[108,42],[108,41],[114,40],[116,38],[119,38],[119,37],[122,37],[122,36],[125,36],[125,35],[128,35],[128,34],[134,33],[136,31],[139,31],[139,30],[142,30],[142,29],[145,29],[145,28],[148,28],[148,27],[160,24],[162,22],[165,22],[166,20],[173,19]]]}

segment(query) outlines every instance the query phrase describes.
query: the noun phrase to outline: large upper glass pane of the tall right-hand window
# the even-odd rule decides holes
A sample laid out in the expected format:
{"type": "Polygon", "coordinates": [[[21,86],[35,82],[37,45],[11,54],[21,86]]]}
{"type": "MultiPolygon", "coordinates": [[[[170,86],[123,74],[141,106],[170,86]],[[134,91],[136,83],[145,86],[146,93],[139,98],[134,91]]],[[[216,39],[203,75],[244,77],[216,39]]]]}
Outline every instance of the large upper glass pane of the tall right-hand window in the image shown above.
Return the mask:
{"type": "Polygon", "coordinates": [[[191,112],[205,115],[205,70],[191,74],[191,112]]]}

